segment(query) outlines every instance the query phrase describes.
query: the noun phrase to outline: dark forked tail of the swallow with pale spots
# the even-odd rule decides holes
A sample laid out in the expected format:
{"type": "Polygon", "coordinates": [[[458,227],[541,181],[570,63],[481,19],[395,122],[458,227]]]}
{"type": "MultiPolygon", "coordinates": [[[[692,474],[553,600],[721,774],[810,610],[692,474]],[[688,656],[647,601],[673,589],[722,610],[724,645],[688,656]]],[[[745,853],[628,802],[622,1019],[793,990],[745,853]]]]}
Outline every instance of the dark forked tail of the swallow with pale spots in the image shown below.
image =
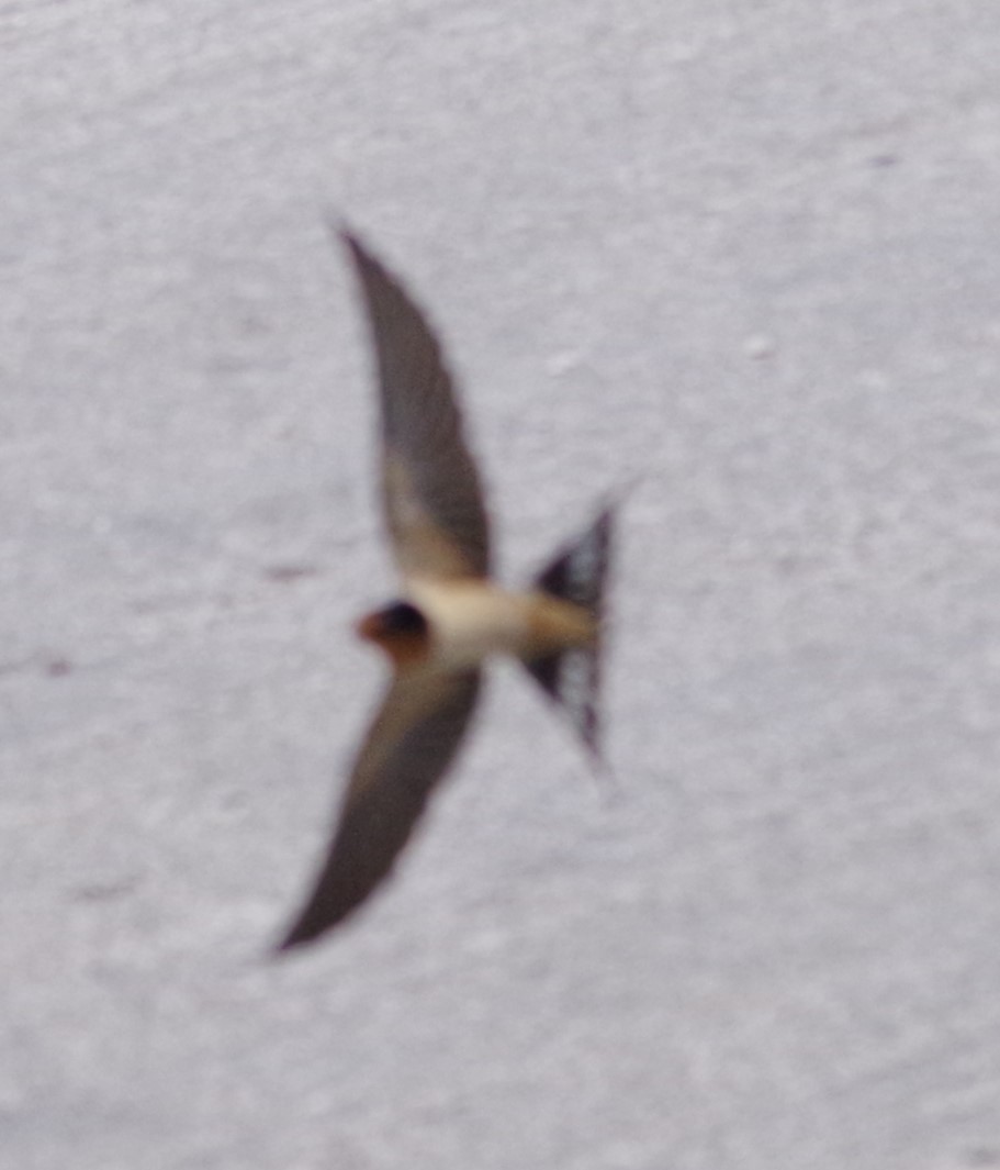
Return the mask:
{"type": "Polygon", "coordinates": [[[601,759],[598,708],[601,619],[615,507],[616,501],[606,504],[591,524],[535,578],[537,589],[588,610],[598,622],[596,636],[587,646],[524,663],[552,702],[565,710],[587,750],[598,762],[601,759]]]}

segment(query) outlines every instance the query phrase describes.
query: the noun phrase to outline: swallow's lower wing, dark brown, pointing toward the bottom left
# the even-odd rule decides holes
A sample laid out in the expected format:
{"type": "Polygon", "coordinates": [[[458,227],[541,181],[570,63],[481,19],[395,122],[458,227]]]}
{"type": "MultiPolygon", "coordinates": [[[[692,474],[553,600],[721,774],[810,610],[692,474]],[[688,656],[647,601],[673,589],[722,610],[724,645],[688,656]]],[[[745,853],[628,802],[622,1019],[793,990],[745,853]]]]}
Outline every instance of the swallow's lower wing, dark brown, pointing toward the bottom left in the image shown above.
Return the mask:
{"type": "Polygon", "coordinates": [[[354,764],[316,886],[278,950],[335,927],[388,876],[458,749],[480,681],[478,670],[395,676],[354,764]]]}

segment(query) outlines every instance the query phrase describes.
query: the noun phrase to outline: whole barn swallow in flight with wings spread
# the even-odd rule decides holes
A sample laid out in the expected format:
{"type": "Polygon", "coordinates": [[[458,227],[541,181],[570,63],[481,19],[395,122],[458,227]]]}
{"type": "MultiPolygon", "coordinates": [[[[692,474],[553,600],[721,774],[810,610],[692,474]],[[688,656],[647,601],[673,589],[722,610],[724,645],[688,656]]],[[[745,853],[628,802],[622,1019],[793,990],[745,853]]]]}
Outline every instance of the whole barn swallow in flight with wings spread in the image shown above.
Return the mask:
{"type": "Polygon", "coordinates": [[[391,680],[329,851],[281,951],[343,922],[388,876],[465,735],[491,655],[523,662],[600,759],[596,700],[614,505],[605,504],[529,589],[502,589],[490,576],[483,490],[441,346],[400,282],[357,236],[342,230],[340,239],[375,350],[382,505],[401,591],[358,622],[358,634],[387,656],[391,680]]]}

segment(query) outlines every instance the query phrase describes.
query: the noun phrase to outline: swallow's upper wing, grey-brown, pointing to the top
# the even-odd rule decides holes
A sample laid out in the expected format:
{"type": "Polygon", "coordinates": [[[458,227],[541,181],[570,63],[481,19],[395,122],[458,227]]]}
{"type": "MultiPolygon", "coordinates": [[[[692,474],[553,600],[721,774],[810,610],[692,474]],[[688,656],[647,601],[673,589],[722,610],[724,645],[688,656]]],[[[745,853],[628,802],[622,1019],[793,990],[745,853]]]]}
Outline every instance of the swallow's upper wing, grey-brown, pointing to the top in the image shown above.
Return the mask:
{"type": "Polygon", "coordinates": [[[378,356],[382,493],[399,570],[404,577],[485,577],[483,493],[441,347],[394,277],[353,235],[342,235],[378,356]]]}

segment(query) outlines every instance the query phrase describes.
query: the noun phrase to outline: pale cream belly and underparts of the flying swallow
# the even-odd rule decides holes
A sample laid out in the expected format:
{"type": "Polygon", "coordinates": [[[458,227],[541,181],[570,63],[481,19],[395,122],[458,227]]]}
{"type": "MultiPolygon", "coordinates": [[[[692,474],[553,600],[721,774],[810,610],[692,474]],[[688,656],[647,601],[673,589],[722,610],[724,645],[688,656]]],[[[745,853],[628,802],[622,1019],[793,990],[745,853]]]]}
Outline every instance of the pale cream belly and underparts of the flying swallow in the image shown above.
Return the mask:
{"type": "Polygon", "coordinates": [[[586,645],[595,634],[582,608],[543,593],[511,593],[482,580],[411,578],[407,594],[428,619],[435,669],[477,666],[490,654],[537,658],[586,645]]]}

